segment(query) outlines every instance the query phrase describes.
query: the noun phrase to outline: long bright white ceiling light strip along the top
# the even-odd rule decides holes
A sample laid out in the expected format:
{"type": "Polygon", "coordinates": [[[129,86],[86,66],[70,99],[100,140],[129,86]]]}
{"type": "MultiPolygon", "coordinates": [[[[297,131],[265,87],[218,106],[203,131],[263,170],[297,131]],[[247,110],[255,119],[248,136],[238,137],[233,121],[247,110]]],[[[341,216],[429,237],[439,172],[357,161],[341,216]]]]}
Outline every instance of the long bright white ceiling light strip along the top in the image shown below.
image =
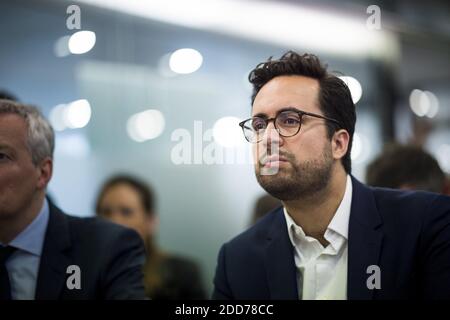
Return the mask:
{"type": "Polygon", "coordinates": [[[351,16],[276,1],[78,0],[189,28],[225,33],[293,49],[344,56],[398,54],[388,28],[372,31],[365,10],[351,16]],[[201,8],[201,10],[199,10],[201,8]]]}

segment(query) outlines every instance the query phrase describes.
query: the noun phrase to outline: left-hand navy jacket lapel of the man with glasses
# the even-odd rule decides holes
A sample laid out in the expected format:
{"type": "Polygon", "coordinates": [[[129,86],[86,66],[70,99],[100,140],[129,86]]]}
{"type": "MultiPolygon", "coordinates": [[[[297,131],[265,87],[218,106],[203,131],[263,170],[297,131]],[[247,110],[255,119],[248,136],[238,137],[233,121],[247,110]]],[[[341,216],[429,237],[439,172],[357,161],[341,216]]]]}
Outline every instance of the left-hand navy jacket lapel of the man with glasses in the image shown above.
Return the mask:
{"type": "Polygon", "coordinates": [[[294,252],[283,209],[273,216],[264,256],[270,299],[298,299],[294,252]]]}

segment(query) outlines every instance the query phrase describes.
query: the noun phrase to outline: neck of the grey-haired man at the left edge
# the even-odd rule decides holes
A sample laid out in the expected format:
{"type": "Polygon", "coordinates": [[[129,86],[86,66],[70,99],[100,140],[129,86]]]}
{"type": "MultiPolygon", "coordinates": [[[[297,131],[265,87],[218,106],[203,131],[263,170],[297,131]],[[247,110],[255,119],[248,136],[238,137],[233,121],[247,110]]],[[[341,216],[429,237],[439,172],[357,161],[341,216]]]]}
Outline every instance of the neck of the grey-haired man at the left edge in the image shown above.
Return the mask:
{"type": "Polygon", "coordinates": [[[0,242],[9,244],[38,216],[44,204],[45,194],[36,195],[30,205],[19,212],[9,214],[7,217],[0,215],[0,242]]]}

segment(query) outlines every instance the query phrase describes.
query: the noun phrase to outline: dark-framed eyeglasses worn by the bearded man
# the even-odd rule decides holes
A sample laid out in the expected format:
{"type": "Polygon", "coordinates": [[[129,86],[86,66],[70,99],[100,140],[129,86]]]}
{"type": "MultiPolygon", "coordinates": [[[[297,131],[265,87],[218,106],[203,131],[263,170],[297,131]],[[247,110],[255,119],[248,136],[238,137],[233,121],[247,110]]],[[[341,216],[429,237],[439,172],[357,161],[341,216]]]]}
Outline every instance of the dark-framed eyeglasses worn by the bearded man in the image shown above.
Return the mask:
{"type": "Polygon", "coordinates": [[[279,112],[275,118],[265,118],[262,116],[252,117],[239,123],[245,139],[250,143],[260,142],[270,121],[273,121],[275,130],[282,137],[292,137],[299,133],[302,126],[303,116],[324,119],[338,127],[342,127],[336,119],[328,118],[320,114],[305,112],[295,108],[279,112]]]}

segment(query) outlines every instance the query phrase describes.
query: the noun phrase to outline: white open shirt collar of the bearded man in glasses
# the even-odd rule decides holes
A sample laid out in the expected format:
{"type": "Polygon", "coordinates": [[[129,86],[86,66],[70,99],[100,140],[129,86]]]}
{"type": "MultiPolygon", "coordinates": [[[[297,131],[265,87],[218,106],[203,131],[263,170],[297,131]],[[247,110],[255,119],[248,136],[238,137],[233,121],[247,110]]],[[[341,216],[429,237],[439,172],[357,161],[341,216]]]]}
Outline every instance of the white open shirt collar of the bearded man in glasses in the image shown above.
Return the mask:
{"type": "MultiPolygon", "coordinates": [[[[328,239],[330,230],[338,233],[345,240],[348,240],[348,224],[350,221],[352,194],[353,194],[352,179],[351,179],[350,175],[347,175],[344,197],[342,198],[342,201],[339,204],[339,207],[336,210],[336,213],[334,214],[333,219],[331,220],[330,224],[327,227],[327,230],[325,231],[325,238],[328,241],[330,240],[330,239],[328,239]]],[[[283,212],[284,212],[284,217],[286,219],[289,238],[291,240],[291,243],[295,246],[294,230],[299,231],[301,238],[306,238],[306,235],[305,235],[303,229],[300,226],[298,226],[295,223],[295,221],[291,218],[291,216],[288,214],[285,207],[283,207],[283,212]]],[[[333,247],[335,247],[335,245],[332,243],[333,241],[329,241],[329,242],[331,243],[331,245],[333,247]]]]}

